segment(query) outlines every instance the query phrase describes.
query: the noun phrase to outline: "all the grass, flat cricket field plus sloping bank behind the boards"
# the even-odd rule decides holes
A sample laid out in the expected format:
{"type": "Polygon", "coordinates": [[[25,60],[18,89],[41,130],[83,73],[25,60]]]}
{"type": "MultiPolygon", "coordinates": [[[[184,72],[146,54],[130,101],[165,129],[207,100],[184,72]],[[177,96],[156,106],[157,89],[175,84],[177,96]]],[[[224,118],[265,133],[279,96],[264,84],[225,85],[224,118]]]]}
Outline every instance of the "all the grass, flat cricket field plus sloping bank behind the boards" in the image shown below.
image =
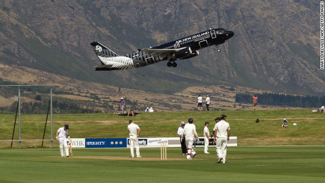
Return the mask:
{"type": "MultiPolygon", "coordinates": [[[[180,121],[194,119],[199,136],[204,122],[210,132],[214,118],[228,117],[231,136],[238,146],[228,147],[227,163],[217,164],[215,147],[210,155],[198,147],[187,161],[181,149],[168,147],[167,161],[159,148],[140,148],[142,158],[129,158],[129,148],[73,149],[74,157],[60,158],[57,141],[0,142],[0,182],[324,182],[325,114],[302,110],[184,111],[141,113],[136,117],[113,114],[55,114],[53,134],[69,124],[72,138],[127,137],[133,119],[145,137],[177,137],[180,121]],[[255,120],[259,118],[260,123],[255,120]],[[281,129],[282,119],[289,127],[281,129]],[[297,126],[293,126],[297,123],[297,126]],[[29,148],[34,146],[35,148],[29,148]]],[[[46,115],[21,116],[21,139],[42,139],[46,115]]],[[[0,115],[0,140],[10,140],[15,115],[0,115]]],[[[54,135],[55,136],[55,135],[54,135]]],[[[18,139],[18,124],[14,139],[18,139]]],[[[50,124],[45,139],[50,139],[50,124]]]]}

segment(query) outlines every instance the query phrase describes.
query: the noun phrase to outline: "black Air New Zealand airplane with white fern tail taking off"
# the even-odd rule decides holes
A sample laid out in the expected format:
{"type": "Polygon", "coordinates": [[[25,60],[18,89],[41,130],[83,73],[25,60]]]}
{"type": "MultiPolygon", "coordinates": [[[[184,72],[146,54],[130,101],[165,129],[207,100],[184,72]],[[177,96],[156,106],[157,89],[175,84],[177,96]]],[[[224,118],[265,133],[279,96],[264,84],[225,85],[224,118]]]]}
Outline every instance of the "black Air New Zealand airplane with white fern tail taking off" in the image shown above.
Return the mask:
{"type": "Polygon", "coordinates": [[[99,42],[90,43],[93,50],[99,57],[101,64],[95,66],[95,71],[112,71],[134,69],[149,66],[161,61],[168,60],[168,67],[177,67],[177,59],[187,59],[199,55],[199,49],[216,45],[217,51],[220,52],[218,45],[224,43],[234,36],[234,32],[224,28],[215,28],[169,43],[138,49],[133,54],[120,56],[114,51],[108,49],[99,42]]]}

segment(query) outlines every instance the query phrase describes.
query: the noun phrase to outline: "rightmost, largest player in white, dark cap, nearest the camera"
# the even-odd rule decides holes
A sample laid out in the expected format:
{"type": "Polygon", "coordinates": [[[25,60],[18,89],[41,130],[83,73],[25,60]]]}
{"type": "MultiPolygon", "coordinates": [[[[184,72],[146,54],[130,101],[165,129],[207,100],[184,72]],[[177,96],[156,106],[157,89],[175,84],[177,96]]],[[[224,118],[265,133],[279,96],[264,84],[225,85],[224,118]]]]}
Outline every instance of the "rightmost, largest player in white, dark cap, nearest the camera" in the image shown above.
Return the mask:
{"type": "Polygon", "coordinates": [[[221,120],[215,124],[213,130],[214,141],[216,142],[216,151],[218,156],[218,163],[225,163],[225,157],[227,155],[227,142],[230,136],[229,123],[225,121],[225,115],[220,116],[221,120]]]}

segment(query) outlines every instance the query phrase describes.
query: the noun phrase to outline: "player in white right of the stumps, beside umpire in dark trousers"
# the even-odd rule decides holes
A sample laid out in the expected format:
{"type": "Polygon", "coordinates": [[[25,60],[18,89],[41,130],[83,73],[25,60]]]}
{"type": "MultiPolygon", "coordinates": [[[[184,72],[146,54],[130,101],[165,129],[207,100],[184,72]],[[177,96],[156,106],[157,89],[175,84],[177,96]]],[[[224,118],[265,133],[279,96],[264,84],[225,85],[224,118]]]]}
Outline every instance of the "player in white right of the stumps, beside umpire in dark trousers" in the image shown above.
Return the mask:
{"type": "Polygon", "coordinates": [[[191,156],[195,157],[195,154],[192,154],[192,148],[193,148],[193,141],[194,141],[194,137],[198,138],[198,134],[197,134],[197,130],[195,125],[193,124],[193,119],[189,118],[188,119],[188,123],[184,126],[184,130],[182,132],[181,135],[181,139],[183,138],[185,134],[185,144],[186,144],[186,148],[187,148],[187,160],[191,160],[191,156]]]}

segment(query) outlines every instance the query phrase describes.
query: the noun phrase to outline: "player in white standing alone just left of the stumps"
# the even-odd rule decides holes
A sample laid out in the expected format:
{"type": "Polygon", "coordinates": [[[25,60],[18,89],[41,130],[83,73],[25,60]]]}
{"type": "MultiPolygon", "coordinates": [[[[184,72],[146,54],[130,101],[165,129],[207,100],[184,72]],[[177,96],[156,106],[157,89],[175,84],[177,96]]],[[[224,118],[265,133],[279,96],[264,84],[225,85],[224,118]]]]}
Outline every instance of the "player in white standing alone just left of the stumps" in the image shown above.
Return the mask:
{"type": "Polygon", "coordinates": [[[134,158],[134,147],[136,147],[137,158],[141,158],[140,156],[140,149],[139,149],[139,140],[140,137],[140,127],[133,123],[133,120],[128,121],[128,135],[130,140],[130,150],[131,150],[131,157],[134,158]]]}

